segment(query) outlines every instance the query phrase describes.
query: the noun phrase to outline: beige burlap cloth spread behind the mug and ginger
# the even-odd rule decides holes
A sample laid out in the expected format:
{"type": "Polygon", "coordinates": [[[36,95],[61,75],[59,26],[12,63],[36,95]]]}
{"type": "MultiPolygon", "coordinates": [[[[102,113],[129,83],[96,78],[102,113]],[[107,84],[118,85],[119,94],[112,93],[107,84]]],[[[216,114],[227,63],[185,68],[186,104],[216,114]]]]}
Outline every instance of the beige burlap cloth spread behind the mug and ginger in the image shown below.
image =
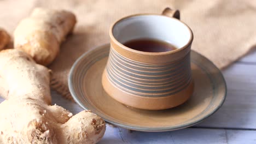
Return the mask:
{"type": "Polygon", "coordinates": [[[181,10],[181,20],[194,32],[192,49],[224,68],[256,44],[256,1],[0,1],[0,27],[13,33],[18,22],[34,7],[67,9],[77,16],[73,35],[61,45],[50,65],[52,87],[66,98],[67,78],[74,61],[84,52],[109,42],[109,26],[126,15],[160,14],[165,7],[181,10]]]}

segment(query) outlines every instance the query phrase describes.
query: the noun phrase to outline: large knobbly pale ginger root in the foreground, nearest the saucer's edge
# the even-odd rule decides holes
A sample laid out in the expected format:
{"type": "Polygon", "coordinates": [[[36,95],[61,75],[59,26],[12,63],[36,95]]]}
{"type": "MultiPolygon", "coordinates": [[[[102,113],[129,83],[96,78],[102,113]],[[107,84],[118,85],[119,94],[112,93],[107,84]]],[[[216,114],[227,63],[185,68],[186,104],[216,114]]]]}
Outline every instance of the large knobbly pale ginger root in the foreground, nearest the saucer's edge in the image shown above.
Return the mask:
{"type": "Polygon", "coordinates": [[[16,49],[0,52],[0,143],[96,143],[106,129],[90,111],[50,105],[50,70],[16,49]]]}

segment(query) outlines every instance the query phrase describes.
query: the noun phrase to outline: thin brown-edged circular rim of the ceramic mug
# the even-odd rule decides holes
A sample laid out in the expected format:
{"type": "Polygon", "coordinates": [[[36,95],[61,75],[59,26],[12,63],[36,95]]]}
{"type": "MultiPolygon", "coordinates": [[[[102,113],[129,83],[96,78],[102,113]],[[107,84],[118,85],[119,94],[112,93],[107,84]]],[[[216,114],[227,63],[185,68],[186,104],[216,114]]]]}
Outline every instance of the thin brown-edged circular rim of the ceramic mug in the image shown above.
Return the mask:
{"type": "Polygon", "coordinates": [[[117,44],[118,46],[122,47],[123,49],[127,50],[127,51],[130,51],[130,52],[134,52],[134,53],[139,53],[141,55],[148,55],[148,56],[158,56],[158,55],[168,55],[170,53],[175,53],[175,52],[178,52],[178,51],[182,51],[184,49],[186,49],[193,41],[194,39],[194,35],[193,35],[193,32],[191,30],[191,28],[186,24],[184,23],[183,21],[181,20],[178,20],[174,17],[170,17],[170,16],[166,16],[166,15],[162,15],[162,14],[134,14],[134,15],[129,15],[129,16],[124,16],[123,18],[115,21],[109,28],[109,36],[110,36],[110,39],[112,39],[114,41],[115,44],[117,44]],[[125,19],[128,19],[130,17],[136,17],[136,16],[144,16],[144,15],[155,15],[155,16],[164,16],[164,17],[168,17],[170,19],[173,19],[173,20],[176,20],[178,22],[181,22],[185,27],[188,28],[189,30],[189,33],[190,33],[190,38],[189,38],[189,41],[188,43],[186,43],[184,46],[182,46],[181,48],[178,48],[176,50],[172,50],[172,51],[166,51],[166,52],[146,52],[146,51],[138,51],[138,50],[134,50],[134,49],[131,49],[130,47],[127,47],[123,44],[121,44],[113,35],[113,28],[114,26],[122,21],[122,20],[125,20],[125,19]]]}

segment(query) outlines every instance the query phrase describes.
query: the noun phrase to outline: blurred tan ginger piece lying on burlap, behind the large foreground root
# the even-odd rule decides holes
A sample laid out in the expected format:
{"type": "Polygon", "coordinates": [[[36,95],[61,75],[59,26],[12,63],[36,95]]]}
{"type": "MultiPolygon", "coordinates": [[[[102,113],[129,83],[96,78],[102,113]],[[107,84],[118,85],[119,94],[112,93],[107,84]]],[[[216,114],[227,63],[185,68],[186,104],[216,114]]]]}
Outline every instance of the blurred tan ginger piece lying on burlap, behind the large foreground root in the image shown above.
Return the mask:
{"type": "Polygon", "coordinates": [[[14,48],[25,51],[38,64],[49,65],[75,22],[75,15],[69,11],[36,8],[16,27],[14,48]]]}

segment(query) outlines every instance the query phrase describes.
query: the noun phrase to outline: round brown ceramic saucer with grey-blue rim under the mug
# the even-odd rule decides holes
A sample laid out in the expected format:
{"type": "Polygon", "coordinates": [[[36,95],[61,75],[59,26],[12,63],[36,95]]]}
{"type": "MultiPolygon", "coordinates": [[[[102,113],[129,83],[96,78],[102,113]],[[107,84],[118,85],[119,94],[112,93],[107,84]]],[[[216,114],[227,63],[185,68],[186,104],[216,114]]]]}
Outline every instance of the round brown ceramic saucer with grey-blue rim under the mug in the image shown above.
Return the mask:
{"type": "Polygon", "coordinates": [[[220,70],[207,58],[191,51],[195,82],[193,96],[184,104],[167,110],[138,110],[112,99],[101,84],[109,44],[84,53],[74,63],[68,86],[74,100],[104,120],[139,131],[170,131],[190,127],[211,116],[222,106],[226,85],[220,70]]]}

